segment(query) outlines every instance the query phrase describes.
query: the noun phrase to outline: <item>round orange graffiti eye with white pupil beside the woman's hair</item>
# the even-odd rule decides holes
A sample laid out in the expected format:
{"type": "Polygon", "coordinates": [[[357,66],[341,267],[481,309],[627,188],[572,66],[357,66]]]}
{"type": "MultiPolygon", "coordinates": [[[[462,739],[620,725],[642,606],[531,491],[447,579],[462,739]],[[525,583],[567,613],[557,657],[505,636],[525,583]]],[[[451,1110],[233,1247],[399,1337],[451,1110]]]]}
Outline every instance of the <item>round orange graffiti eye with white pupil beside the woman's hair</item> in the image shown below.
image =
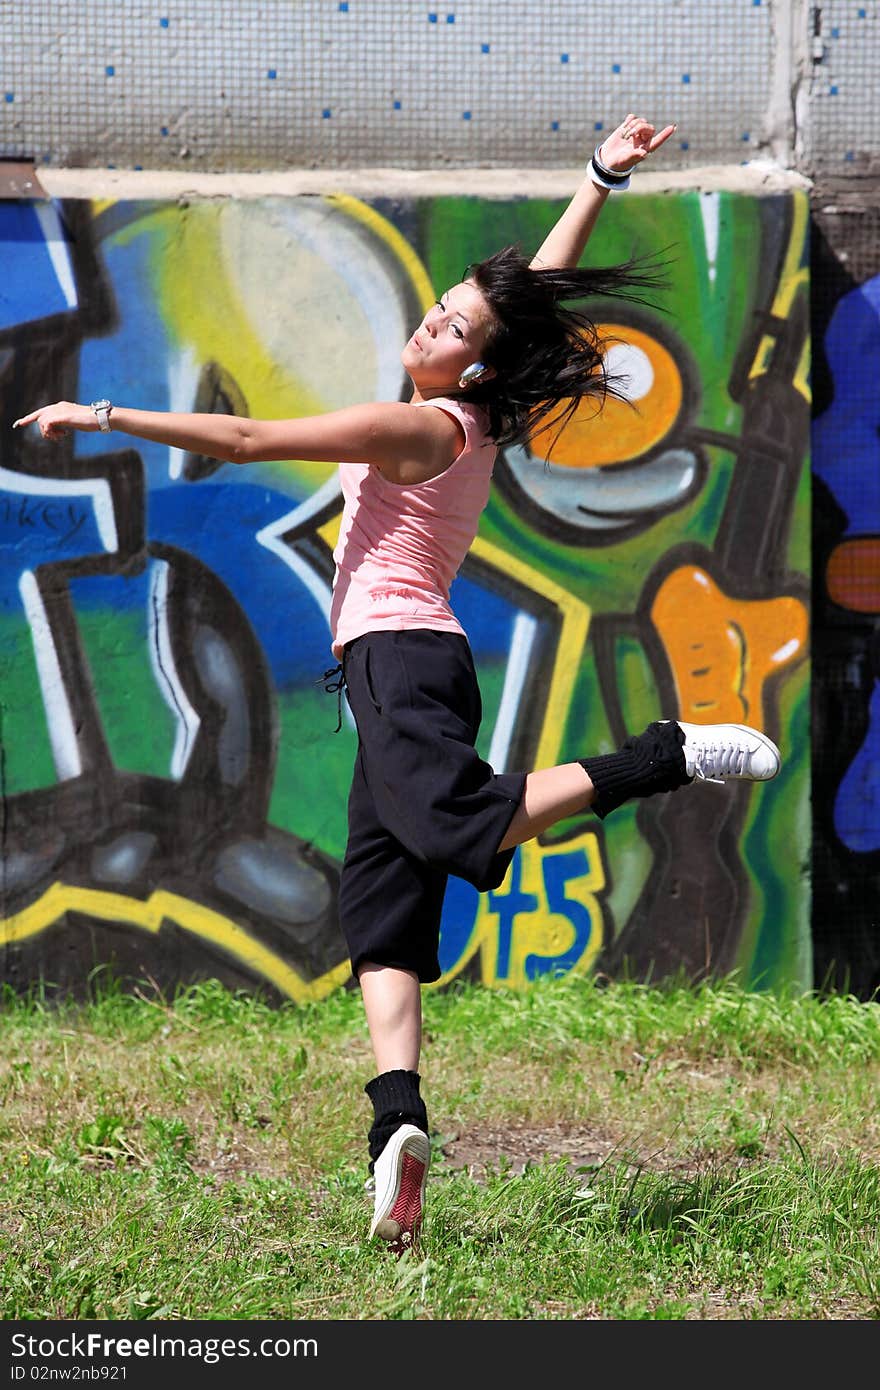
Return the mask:
{"type": "MultiPolygon", "coordinates": [[[[681,374],[667,348],[631,324],[599,324],[599,335],[609,343],[609,371],[627,377],[627,400],[609,396],[601,413],[595,400],[578,406],[552,452],[553,464],[564,468],[638,459],[666,438],[681,409],[681,374]]],[[[538,431],[532,453],[546,457],[555,435],[552,425],[538,431]]]]}

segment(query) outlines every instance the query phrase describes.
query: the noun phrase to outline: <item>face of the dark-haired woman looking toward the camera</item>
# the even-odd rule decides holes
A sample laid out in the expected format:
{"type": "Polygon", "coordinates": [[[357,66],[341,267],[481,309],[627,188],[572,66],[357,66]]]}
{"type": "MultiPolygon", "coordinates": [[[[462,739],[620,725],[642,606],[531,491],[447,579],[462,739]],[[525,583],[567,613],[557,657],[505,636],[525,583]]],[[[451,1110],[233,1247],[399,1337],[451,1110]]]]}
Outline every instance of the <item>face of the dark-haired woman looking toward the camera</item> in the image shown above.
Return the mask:
{"type": "Polygon", "coordinates": [[[423,396],[459,389],[464,368],[481,360],[491,321],[489,307],[470,279],[453,285],[432,304],[400,353],[423,396]]]}

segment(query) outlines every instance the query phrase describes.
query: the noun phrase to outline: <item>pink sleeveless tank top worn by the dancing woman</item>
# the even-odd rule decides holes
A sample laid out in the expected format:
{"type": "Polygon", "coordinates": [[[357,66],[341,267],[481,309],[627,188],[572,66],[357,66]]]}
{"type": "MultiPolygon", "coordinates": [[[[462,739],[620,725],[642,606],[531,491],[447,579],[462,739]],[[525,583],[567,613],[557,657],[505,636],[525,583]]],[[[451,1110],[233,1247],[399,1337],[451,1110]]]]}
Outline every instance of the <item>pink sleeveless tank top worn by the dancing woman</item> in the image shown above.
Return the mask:
{"type": "Polygon", "coordinates": [[[480,406],[448,396],[420,406],[445,410],[464,430],[462,453],[437,478],[402,486],[368,464],[339,464],[345,505],[329,614],[336,660],[364,632],[463,631],[449,588],[477,535],[498,450],[480,406]]]}

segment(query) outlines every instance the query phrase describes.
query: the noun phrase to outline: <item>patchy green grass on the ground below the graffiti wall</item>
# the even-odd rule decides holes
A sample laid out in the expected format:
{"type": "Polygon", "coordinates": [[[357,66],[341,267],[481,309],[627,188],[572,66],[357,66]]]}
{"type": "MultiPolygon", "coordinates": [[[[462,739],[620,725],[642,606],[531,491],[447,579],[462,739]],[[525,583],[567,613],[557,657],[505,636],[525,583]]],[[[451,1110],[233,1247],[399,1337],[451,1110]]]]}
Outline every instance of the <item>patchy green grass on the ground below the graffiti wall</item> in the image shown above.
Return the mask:
{"type": "Polygon", "coordinates": [[[880,1005],[425,992],[430,1205],[368,1245],[360,998],[0,1012],[3,1319],[876,1319],[880,1005]]]}

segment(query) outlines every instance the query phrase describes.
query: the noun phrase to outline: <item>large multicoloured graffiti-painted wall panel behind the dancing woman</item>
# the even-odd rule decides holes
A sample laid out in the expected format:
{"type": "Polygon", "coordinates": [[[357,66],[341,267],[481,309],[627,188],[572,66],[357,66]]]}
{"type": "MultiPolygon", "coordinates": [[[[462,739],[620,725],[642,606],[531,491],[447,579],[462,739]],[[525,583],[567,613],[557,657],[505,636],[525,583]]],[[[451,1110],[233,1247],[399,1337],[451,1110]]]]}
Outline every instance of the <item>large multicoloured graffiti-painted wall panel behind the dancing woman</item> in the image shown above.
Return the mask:
{"type": "MultiPolygon", "coordinates": [[[[323,680],[334,467],[241,468],[114,434],[49,445],[11,421],[104,395],[275,417],[406,399],[399,350],[424,307],[499,245],[537,246],[559,211],[0,203],[14,988],[76,991],[96,969],[296,1001],[349,986],[356,735],[323,680]]],[[[798,192],[609,202],[589,259],[655,254],[666,277],[652,306],[591,306],[628,400],[578,414],[549,464],[546,439],[502,452],[453,588],[498,770],[610,752],[678,714],[765,728],[783,771],[576,817],[517,851],[495,892],[452,880],[439,988],[570,970],[812,981],[808,221],[798,192]]],[[[876,557],[865,510],[859,525],[841,584],[876,557]]]]}

